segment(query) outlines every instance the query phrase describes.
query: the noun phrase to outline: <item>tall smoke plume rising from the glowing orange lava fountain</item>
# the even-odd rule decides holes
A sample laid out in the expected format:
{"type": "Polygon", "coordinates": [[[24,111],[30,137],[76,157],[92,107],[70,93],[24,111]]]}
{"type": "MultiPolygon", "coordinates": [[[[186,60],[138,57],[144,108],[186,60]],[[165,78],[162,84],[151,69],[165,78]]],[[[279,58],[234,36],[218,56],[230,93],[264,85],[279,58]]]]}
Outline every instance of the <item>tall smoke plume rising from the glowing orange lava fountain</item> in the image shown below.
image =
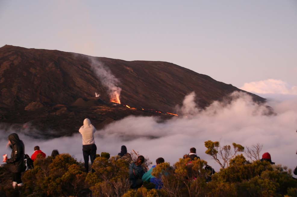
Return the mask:
{"type": "Polygon", "coordinates": [[[112,73],[111,70],[106,67],[102,62],[97,61],[94,57],[89,58],[91,61],[91,67],[95,71],[97,77],[101,81],[102,85],[108,89],[108,95],[111,102],[120,104],[121,88],[117,86],[120,82],[112,73]]]}

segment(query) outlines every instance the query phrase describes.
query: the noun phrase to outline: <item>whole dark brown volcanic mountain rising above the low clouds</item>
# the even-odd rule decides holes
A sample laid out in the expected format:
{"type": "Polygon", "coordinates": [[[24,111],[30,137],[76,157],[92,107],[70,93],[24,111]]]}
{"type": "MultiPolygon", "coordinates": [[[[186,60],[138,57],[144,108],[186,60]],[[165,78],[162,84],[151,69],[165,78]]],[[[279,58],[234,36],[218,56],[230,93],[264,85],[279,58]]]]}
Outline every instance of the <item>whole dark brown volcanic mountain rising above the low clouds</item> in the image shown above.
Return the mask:
{"type": "MultiPolygon", "coordinates": [[[[51,130],[51,137],[77,132],[85,117],[98,128],[131,114],[157,112],[154,115],[169,117],[166,112],[176,113],[175,107],[190,92],[196,93],[197,105],[205,108],[233,91],[242,91],[168,62],[124,61],[11,45],[0,48],[0,89],[0,121],[6,123],[2,127],[33,125],[51,130]],[[121,88],[121,105],[110,103],[109,82],[121,88]],[[100,99],[94,97],[95,92],[100,99]]],[[[255,102],[265,102],[249,94],[255,102]]]]}

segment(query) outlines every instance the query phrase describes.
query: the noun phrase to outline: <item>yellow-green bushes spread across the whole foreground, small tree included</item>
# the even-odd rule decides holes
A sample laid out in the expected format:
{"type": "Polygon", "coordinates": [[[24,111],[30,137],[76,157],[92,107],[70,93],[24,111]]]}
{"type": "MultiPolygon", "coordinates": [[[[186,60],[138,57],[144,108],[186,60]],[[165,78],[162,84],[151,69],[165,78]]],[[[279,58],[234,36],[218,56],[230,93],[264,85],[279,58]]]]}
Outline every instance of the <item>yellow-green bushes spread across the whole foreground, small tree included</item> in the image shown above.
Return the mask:
{"type": "MultiPolygon", "coordinates": [[[[297,181],[286,167],[266,161],[248,161],[239,155],[244,147],[236,143],[233,143],[234,153],[231,146],[220,147],[218,142],[207,141],[205,146],[206,153],[222,164],[219,172],[211,176],[211,171],[205,168],[207,162],[200,159],[180,159],[173,166],[166,162],[158,164],[152,170],[152,175],[163,183],[162,189],[158,190],[146,182],[139,189],[130,189],[131,157],[110,157],[109,153],[101,153],[92,165],[95,172],[85,173],[82,163],[69,154],[61,154],[55,158],[37,158],[34,169],[27,170],[22,176],[24,186],[12,189],[11,185],[1,185],[0,194],[31,197],[297,196],[297,181]]],[[[6,167],[0,169],[1,178],[5,170],[6,167]]]]}

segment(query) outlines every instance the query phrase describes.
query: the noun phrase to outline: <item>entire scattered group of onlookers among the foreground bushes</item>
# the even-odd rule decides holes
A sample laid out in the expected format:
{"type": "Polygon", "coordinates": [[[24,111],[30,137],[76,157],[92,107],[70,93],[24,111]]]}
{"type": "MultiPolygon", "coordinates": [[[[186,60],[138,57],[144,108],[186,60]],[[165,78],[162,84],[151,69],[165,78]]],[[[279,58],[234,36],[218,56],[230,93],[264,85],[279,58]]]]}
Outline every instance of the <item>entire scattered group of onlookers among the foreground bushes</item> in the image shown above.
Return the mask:
{"type": "MultiPolygon", "coordinates": [[[[91,121],[86,118],[83,121],[83,126],[80,127],[79,132],[82,135],[83,139],[83,158],[85,161],[85,169],[86,172],[89,172],[89,157],[91,160],[91,163],[93,164],[95,158],[96,158],[96,150],[97,147],[95,145],[94,140],[94,133],[96,129],[91,124],[91,121]]],[[[7,146],[10,146],[12,149],[11,152],[11,158],[7,158],[7,155],[3,155],[3,162],[6,162],[9,164],[9,170],[12,172],[12,186],[22,186],[22,180],[21,180],[21,172],[26,170],[26,165],[24,163],[24,157],[25,157],[25,147],[22,140],[20,140],[19,136],[16,133],[12,133],[8,136],[8,144],[7,146]]],[[[34,147],[34,153],[31,155],[31,160],[34,161],[37,158],[37,155],[41,155],[40,157],[45,158],[45,153],[42,152],[39,148],[39,146],[34,147]]],[[[55,158],[55,156],[59,155],[58,150],[52,151],[52,157],[55,158]]],[[[132,161],[131,155],[127,152],[127,147],[125,145],[122,145],[121,152],[118,153],[120,157],[126,157],[129,158],[132,161]]],[[[196,149],[191,148],[189,154],[183,156],[184,159],[190,158],[191,161],[194,159],[200,159],[196,154],[196,149]]],[[[28,157],[29,159],[29,157],[28,157]]],[[[265,152],[262,155],[261,161],[268,161],[271,164],[274,164],[274,162],[271,161],[271,156],[268,152],[265,152]]],[[[145,158],[140,155],[138,156],[137,160],[130,164],[129,167],[129,179],[131,181],[131,188],[139,188],[142,186],[143,182],[151,182],[155,184],[156,189],[160,189],[163,184],[159,177],[152,176],[152,170],[156,167],[156,165],[164,163],[164,158],[158,158],[156,160],[156,165],[152,166],[151,169],[147,169],[148,171],[145,172],[142,164],[145,162],[145,158]]],[[[206,166],[207,169],[211,171],[211,174],[214,174],[214,169],[210,166],[206,166]]],[[[206,169],[206,168],[205,168],[206,169]]],[[[94,170],[92,169],[92,172],[94,170]]],[[[294,170],[294,174],[297,175],[297,167],[294,170]]]]}

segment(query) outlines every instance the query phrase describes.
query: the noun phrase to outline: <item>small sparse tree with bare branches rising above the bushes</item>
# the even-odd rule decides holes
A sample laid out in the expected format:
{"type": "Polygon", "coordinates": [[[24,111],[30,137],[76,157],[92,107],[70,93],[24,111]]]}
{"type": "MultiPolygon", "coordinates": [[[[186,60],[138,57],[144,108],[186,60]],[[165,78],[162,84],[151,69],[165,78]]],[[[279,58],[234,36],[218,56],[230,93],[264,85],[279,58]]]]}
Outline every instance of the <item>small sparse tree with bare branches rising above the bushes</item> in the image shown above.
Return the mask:
{"type": "Polygon", "coordinates": [[[227,167],[229,167],[228,161],[234,158],[238,152],[244,151],[244,147],[242,145],[234,142],[232,143],[234,149],[233,154],[230,145],[224,145],[221,147],[220,142],[213,142],[211,140],[204,142],[204,145],[207,148],[205,153],[210,155],[218,164],[220,164],[222,168],[225,168],[226,164],[227,167]]]}

